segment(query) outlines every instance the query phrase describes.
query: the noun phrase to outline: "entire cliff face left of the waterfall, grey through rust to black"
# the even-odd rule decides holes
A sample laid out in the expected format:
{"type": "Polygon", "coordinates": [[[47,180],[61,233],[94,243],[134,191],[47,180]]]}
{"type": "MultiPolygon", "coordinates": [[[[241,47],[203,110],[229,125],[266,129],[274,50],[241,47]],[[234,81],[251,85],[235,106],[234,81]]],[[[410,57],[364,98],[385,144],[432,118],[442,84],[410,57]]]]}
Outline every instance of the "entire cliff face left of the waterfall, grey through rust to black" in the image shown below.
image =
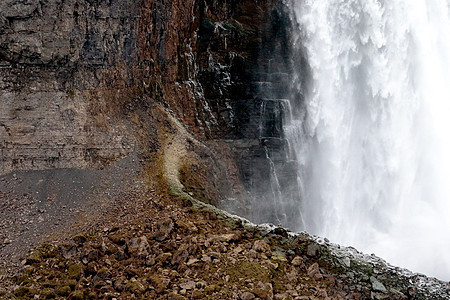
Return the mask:
{"type": "MultiPolygon", "coordinates": [[[[157,125],[146,116],[155,103],[200,138],[258,148],[255,97],[279,42],[278,6],[2,1],[0,174],[102,167],[139,145],[154,148],[157,125]]],[[[242,170],[250,152],[238,153],[242,170]]]]}

